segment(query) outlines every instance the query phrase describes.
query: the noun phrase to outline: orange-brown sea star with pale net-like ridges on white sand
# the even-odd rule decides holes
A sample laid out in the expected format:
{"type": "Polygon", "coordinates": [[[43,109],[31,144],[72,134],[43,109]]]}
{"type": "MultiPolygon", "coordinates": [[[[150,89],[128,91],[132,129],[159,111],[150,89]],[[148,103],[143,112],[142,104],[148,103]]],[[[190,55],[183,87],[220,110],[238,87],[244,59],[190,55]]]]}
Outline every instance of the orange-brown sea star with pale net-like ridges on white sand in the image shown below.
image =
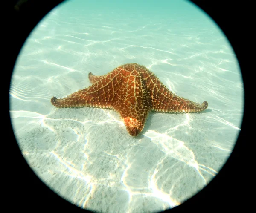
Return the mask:
{"type": "Polygon", "coordinates": [[[201,112],[207,101],[198,104],[173,94],[145,66],[128,63],[107,75],[89,73],[92,86],[68,95],[52,97],[55,107],[99,107],[119,112],[127,131],[137,136],[144,127],[148,112],[201,112]]]}

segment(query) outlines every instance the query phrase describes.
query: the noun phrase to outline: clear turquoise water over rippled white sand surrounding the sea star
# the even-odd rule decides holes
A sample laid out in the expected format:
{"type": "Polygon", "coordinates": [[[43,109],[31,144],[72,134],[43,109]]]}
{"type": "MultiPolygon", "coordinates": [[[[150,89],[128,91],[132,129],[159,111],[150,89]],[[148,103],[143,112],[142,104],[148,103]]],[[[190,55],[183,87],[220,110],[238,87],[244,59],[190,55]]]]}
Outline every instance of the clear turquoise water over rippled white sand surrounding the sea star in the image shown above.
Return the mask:
{"type": "Polygon", "coordinates": [[[34,172],[59,196],[99,212],[180,205],[214,178],[241,127],[244,89],[230,43],[192,3],[70,0],[26,40],[12,76],[10,114],[34,172]],[[147,2],[147,3],[145,3],[147,2]],[[124,63],[148,67],[199,114],[151,112],[131,137],[111,109],[57,109],[124,63]]]}

